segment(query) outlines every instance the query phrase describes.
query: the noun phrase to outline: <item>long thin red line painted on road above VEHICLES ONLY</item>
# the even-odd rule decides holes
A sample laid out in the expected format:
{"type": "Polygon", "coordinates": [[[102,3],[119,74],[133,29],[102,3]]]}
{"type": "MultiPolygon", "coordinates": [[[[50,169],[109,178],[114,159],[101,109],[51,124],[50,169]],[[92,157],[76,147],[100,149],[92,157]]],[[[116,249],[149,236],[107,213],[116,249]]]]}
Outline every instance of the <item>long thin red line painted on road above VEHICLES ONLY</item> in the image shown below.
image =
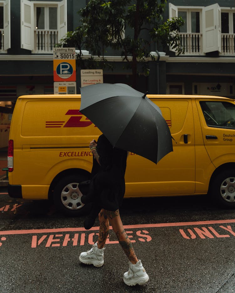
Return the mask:
{"type": "MultiPolygon", "coordinates": [[[[176,227],[176,226],[226,224],[226,223],[235,223],[235,219],[232,219],[232,220],[198,221],[198,222],[177,222],[177,223],[124,225],[124,229],[176,227]]],[[[110,229],[112,229],[112,227],[110,227],[110,229]]],[[[56,229],[9,230],[9,231],[0,231],[0,235],[19,235],[19,234],[76,232],[76,231],[98,231],[98,230],[99,230],[99,227],[92,227],[90,230],[86,230],[83,227],[78,227],[78,228],[56,228],[56,229]]]]}

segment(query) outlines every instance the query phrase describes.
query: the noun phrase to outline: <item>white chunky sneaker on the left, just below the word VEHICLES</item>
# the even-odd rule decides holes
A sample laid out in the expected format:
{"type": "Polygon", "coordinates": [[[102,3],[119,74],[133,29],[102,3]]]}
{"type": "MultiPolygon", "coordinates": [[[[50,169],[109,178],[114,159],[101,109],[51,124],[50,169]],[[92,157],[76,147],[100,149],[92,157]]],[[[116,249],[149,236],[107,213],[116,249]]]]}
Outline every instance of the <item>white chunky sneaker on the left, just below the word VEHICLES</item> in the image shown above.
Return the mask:
{"type": "Polygon", "coordinates": [[[91,250],[80,254],[79,260],[83,264],[100,267],[104,264],[104,250],[105,248],[99,249],[97,243],[95,243],[91,250]]]}

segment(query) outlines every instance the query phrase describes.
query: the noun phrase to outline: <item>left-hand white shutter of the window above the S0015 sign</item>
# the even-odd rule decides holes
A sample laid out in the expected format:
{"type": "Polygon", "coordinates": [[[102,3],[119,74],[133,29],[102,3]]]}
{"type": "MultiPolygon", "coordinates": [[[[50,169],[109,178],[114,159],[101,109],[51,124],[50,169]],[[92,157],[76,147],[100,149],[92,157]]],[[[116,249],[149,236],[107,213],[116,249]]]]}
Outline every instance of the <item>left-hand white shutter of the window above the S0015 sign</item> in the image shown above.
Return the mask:
{"type": "Polygon", "coordinates": [[[28,0],[21,0],[21,48],[34,49],[34,4],[28,0]]]}

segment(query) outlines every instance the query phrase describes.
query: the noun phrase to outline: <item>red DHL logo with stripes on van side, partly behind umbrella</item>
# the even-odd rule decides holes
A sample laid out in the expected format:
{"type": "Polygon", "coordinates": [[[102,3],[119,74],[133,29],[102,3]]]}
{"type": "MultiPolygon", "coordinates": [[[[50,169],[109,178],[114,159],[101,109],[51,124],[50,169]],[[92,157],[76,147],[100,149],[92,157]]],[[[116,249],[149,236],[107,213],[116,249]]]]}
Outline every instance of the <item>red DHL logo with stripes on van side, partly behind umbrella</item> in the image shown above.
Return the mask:
{"type": "MultiPolygon", "coordinates": [[[[86,118],[79,110],[68,110],[65,115],[71,115],[67,122],[65,121],[46,121],[46,128],[60,128],[60,127],[87,127],[92,124],[91,120],[86,118]],[[85,121],[81,121],[84,119],[85,121]],[[63,126],[64,125],[64,126],[63,126]]],[[[166,123],[171,127],[171,120],[166,120],[166,123]]]]}

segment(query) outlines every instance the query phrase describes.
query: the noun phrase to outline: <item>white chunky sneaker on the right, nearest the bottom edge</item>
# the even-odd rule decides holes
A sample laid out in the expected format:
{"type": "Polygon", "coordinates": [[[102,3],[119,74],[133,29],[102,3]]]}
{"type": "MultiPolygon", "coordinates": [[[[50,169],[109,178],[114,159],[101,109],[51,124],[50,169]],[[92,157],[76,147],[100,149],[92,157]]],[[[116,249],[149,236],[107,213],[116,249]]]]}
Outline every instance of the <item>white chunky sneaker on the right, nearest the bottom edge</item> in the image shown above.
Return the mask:
{"type": "Polygon", "coordinates": [[[135,265],[129,262],[129,270],[123,275],[123,281],[128,286],[134,286],[136,284],[143,285],[148,282],[149,276],[146,273],[141,260],[135,265]]]}

